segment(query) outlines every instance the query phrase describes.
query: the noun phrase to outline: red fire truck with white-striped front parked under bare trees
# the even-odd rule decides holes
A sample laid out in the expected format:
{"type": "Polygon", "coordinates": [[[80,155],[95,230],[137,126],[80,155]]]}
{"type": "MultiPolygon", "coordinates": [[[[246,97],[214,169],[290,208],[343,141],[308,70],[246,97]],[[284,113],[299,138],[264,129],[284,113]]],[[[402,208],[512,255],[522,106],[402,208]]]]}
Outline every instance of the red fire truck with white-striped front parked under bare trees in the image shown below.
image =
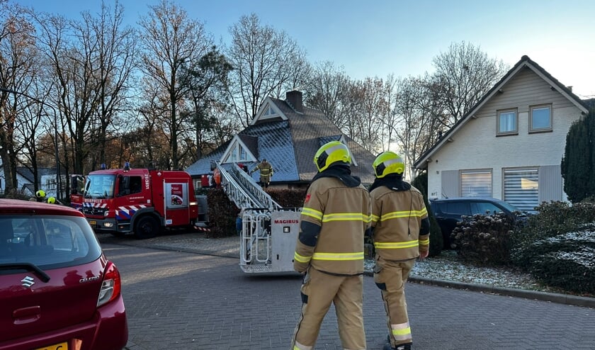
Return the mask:
{"type": "MultiPolygon", "coordinates": [[[[186,171],[131,169],[128,163],[123,169],[102,165],[84,179],[73,176],[70,201],[96,232],[134,232],[140,239],[163,228],[194,227],[199,217],[199,200],[186,171]]],[[[201,204],[204,215],[206,201],[201,204]]]]}

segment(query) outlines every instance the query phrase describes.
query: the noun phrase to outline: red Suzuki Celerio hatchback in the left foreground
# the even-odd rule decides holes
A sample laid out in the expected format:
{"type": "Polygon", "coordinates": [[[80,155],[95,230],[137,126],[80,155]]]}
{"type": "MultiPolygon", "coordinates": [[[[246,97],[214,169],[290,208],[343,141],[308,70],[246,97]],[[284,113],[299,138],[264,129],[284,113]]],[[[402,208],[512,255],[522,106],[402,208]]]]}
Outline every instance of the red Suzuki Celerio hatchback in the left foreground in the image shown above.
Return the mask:
{"type": "Polygon", "coordinates": [[[123,349],[120,288],[81,212],[0,199],[0,350],[123,349]]]}

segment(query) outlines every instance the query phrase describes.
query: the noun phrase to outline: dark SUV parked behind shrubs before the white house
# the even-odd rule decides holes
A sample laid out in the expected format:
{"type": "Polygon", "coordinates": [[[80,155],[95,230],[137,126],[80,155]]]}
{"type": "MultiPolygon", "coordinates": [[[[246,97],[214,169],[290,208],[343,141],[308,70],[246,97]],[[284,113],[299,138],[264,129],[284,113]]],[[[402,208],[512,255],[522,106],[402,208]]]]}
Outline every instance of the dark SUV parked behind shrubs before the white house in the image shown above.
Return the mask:
{"type": "Polygon", "coordinates": [[[450,233],[453,232],[457,222],[463,221],[463,216],[506,213],[514,215],[515,218],[526,217],[526,213],[522,213],[519,208],[496,198],[457,197],[430,199],[430,206],[442,232],[444,249],[450,249],[450,233]]]}

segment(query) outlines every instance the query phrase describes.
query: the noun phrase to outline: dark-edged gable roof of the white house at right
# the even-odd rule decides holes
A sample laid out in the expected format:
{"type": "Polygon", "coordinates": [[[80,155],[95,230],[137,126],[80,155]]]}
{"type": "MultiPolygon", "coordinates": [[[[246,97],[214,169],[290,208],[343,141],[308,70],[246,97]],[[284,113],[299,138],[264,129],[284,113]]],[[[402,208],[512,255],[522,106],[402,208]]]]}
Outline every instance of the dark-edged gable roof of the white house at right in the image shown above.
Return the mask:
{"type": "Polygon", "coordinates": [[[414,162],[414,168],[426,169],[427,162],[429,162],[431,156],[436,151],[438,151],[438,149],[440,149],[446,142],[452,140],[451,137],[458,130],[463,128],[470,119],[475,118],[475,113],[477,113],[477,111],[479,111],[480,108],[482,108],[485,105],[485,103],[489,101],[490,98],[497,94],[507,82],[514,78],[516,74],[524,68],[531,69],[533,72],[535,72],[541,79],[545,80],[548,84],[550,84],[550,87],[552,89],[558,91],[560,94],[562,94],[562,96],[565,96],[565,98],[567,98],[572,104],[574,104],[574,106],[579,108],[579,110],[582,111],[582,113],[589,112],[589,106],[587,106],[587,103],[582,101],[581,98],[579,98],[579,96],[573,94],[572,91],[570,91],[570,89],[567,88],[567,86],[565,86],[564,84],[560,83],[560,81],[552,77],[550,73],[545,71],[545,69],[543,69],[539,64],[531,60],[527,55],[523,55],[523,57],[521,57],[521,60],[519,62],[516,62],[514,67],[512,67],[506,74],[504,74],[504,77],[502,77],[502,79],[500,79],[492,87],[492,89],[487,91],[487,94],[485,94],[479,102],[475,103],[475,106],[473,106],[470,109],[470,111],[465,113],[463,118],[460,118],[460,120],[458,120],[457,123],[455,123],[450,128],[450,130],[448,130],[448,132],[442,135],[442,137],[440,137],[438,141],[436,141],[436,143],[430,149],[424,152],[424,154],[421,154],[421,156],[416,160],[416,162],[414,162]]]}

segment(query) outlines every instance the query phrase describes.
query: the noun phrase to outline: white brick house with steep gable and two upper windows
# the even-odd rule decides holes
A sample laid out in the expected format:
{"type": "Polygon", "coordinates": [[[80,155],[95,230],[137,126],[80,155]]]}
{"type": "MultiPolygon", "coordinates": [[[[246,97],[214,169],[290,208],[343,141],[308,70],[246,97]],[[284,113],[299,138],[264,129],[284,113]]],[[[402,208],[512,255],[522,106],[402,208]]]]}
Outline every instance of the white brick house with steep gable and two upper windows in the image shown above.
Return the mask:
{"type": "Polygon", "coordinates": [[[560,162],[570,125],[587,104],[523,56],[414,163],[429,198],[487,196],[521,210],[567,201],[560,162]]]}

